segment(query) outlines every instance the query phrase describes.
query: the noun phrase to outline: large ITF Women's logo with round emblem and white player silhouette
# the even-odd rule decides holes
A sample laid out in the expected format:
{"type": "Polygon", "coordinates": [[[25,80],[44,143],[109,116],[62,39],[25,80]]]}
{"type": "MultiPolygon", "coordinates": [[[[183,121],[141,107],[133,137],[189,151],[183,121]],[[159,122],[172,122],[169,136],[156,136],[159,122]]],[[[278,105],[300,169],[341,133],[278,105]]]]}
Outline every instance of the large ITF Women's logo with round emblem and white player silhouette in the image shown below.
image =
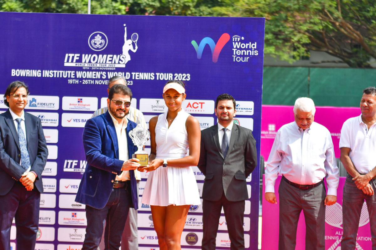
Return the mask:
{"type": "MultiPolygon", "coordinates": [[[[66,53],[64,59],[64,66],[73,67],[88,67],[87,69],[108,69],[108,68],[125,68],[127,62],[130,61],[130,54],[136,53],[138,33],[132,33],[130,38],[127,33],[127,26],[123,24],[124,30],[118,27],[118,35],[113,36],[113,41],[124,41],[124,44],[119,52],[121,54],[77,54],[77,53],[66,53]],[[124,33],[124,35],[123,35],[124,33]],[[132,53],[130,53],[132,52],[132,53]]],[[[105,51],[110,39],[104,32],[96,31],[92,32],[90,35],[88,33],[88,46],[91,50],[95,52],[105,51]]]]}

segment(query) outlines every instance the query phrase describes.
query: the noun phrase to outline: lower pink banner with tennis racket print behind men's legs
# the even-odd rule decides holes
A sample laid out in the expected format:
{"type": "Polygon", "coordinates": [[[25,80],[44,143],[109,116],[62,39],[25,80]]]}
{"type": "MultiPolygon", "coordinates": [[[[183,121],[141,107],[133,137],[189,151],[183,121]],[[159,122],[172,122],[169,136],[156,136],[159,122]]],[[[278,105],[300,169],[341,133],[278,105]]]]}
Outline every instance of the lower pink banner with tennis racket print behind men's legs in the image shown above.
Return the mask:
{"type": "MultiPolygon", "coordinates": [[[[340,177],[340,185],[337,190],[337,203],[326,207],[325,212],[325,249],[340,250],[342,238],[342,195],[343,186],[345,184],[345,177],[340,177]]],[[[265,176],[263,176],[263,183],[265,176]]],[[[281,176],[278,176],[275,190],[278,190],[281,176]]],[[[325,183],[326,185],[326,183],[325,183]]],[[[279,236],[279,196],[277,196],[277,204],[271,204],[265,200],[265,186],[262,187],[262,237],[261,249],[278,249],[279,236]]],[[[371,231],[368,217],[367,206],[363,204],[358,238],[356,241],[356,250],[368,250],[372,248],[371,231]]],[[[298,229],[296,234],[296,248],[295,250],[305,250],[305,222],[303,212],[300,214],[298,229]]]]}

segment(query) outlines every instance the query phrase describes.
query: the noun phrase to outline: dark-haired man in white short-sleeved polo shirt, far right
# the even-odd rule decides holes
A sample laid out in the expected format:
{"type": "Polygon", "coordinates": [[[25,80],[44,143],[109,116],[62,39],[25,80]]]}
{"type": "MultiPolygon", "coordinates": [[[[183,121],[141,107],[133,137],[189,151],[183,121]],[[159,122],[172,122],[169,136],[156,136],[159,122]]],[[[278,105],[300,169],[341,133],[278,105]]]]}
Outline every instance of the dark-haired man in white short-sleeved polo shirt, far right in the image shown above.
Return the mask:
{"type": "Polygon", "coordinates": [[[370,216],[372,250],[376,250],[376,88],[363,90],[362,114],[343,123],[341,162],[347,170],[343,187],[342,250],[354,250],[362,206],[367,203],[370,216]]]}

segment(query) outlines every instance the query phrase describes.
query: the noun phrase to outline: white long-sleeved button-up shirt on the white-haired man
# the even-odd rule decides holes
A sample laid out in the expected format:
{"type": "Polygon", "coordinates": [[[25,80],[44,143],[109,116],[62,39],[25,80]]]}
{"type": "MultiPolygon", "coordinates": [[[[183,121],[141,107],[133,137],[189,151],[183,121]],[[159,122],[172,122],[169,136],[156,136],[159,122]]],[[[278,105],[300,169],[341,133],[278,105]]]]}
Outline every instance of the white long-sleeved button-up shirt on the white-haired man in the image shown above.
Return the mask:
{"type": "Polygon", "coordinates": [[[301,185],[315,184],[325,177],[327,194],[337,196],[339,171],[329,130],[316,122],[304,131],[296,122],[283,125],[267,161],[265,192],[274,193],[278,173],[301,185]]]}

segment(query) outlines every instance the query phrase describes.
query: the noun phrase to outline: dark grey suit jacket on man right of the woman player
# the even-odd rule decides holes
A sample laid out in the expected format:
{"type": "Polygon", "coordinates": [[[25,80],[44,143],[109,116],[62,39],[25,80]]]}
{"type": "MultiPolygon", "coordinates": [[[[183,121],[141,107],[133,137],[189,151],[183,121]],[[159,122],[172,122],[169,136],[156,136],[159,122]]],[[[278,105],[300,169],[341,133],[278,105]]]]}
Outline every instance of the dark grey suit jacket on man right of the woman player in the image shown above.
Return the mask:
{"type": "Polygon", "coordinates": [[[248,199],[246,178],[257,166],[256,141],[252,131],[234,124],[226,158],[218,140],[218,126],[201,131],[198,167],[205,175],[202,198],[216,201],[224,192],[226,199],[248,199]]]}

